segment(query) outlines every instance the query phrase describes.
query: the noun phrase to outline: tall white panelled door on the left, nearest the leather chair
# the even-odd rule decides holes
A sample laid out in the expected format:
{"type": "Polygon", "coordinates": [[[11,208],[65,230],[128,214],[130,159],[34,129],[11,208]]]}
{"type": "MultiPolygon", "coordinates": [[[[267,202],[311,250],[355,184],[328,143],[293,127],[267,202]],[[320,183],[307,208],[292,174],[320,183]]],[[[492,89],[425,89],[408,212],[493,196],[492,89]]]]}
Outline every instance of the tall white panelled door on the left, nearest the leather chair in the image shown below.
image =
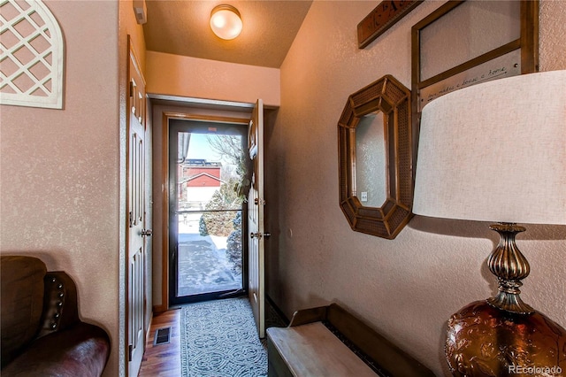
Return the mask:
{"type": "MultiPolygon", "coordinates": [[[[128,40],[129,42],[129,40],[128,40]]],[[[129,44],[129,43],[128,43],[129,44]]],[[[151,234],[146,225],[145,202],[145,83],[134,51],[129,50],[128,142],[127,142],[127,350],[128,375],[137,376],[145,346],[146,311],[145,238],[151,234]]]]}

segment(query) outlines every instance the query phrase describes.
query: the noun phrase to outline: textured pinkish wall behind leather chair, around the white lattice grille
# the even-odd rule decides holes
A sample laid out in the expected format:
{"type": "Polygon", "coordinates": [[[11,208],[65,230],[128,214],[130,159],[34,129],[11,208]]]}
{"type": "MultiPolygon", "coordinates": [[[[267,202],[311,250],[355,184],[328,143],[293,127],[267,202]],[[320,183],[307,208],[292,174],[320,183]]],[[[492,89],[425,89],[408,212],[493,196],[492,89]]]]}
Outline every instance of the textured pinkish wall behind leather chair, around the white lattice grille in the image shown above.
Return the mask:
{"type": "Polygon", "coordinates": [[[0,250],[77,284],[119,371],[119,5],[46,1],[65,39],[65,108],[2,106],[0,250]],[[103,52],[102,52],[103,51],[103,52]]]}

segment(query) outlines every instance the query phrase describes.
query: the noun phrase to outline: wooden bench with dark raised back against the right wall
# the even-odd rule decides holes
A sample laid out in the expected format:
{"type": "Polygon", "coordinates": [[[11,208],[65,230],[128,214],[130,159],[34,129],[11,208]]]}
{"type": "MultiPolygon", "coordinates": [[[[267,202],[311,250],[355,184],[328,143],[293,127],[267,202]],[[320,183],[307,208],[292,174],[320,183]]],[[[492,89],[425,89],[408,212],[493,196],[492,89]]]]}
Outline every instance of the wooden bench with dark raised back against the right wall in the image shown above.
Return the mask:
{"type": "Polygon", "coordinates": [[[434,376],[338,304],[295,312],[267,329],[268,376],[434,376]]]}

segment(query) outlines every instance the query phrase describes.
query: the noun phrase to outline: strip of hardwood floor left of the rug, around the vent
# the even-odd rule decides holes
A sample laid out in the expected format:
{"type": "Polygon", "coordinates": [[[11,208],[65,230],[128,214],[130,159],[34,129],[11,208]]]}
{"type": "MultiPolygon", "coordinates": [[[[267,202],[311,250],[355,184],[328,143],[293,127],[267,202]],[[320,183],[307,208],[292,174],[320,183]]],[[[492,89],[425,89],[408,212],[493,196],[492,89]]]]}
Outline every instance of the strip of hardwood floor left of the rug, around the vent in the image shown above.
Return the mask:
{"type": "Polygon", "coordinates": [[[180,376],[180,309],[154,314],[139,376],[180,376]],[[171,342],[154,345],[156,330],[163,327],[171,327],[171,342]]]}

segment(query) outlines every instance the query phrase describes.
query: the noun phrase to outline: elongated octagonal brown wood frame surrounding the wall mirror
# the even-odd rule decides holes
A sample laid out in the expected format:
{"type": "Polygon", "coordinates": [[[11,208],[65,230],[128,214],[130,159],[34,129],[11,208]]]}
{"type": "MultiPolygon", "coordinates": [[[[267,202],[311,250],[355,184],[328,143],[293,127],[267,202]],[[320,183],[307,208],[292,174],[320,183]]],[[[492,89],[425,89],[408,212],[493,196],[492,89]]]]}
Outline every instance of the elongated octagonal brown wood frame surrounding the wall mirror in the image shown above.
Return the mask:
{"type": "Polygon", "coordinates": [[[338,122],[340,208],[356,232],[394,239],[412,217],[413,135],[410,90],[386,75],[351,96],[338,122]],[[365,115],[383,112],[386,200],[366,207],[356,194],[356,127],[365,115]]]}

